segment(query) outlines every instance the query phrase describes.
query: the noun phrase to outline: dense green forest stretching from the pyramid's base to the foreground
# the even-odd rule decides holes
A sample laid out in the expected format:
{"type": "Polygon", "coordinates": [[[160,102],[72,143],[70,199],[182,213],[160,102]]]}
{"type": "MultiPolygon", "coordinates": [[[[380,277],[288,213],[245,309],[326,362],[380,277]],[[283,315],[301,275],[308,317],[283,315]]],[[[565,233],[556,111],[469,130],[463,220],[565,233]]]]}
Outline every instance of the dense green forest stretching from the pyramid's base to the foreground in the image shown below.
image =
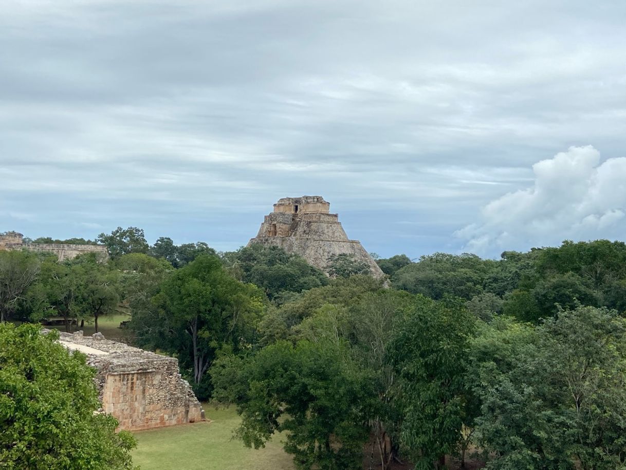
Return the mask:
{"type": "Polygon", "coordinates": [[[3,322],[97,331],[128,311],[128,342],[236,406],[246,446],[285,432],[299,469],[626,469],[622,242],[373,254],[382,280],[346,257],[327,276],[281,249],[148,244],[137,227],[97,242],[108,260],[0,251],[3,322]]]}

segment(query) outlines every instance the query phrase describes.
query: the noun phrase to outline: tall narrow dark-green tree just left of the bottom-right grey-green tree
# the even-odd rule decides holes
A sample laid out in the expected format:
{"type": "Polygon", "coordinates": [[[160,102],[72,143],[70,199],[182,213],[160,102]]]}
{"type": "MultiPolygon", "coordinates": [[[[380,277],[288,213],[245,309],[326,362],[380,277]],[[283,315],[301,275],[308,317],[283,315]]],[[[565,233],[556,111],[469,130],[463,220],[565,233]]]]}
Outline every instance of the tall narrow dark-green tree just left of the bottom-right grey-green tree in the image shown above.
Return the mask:
{"type": "Polygon", "coordinates": [[[416,468],[444,467],[461,439],[465,350],[473,317],[456,303],[420,296],[388,347],[403,403],[401,440],[416,468]]]}

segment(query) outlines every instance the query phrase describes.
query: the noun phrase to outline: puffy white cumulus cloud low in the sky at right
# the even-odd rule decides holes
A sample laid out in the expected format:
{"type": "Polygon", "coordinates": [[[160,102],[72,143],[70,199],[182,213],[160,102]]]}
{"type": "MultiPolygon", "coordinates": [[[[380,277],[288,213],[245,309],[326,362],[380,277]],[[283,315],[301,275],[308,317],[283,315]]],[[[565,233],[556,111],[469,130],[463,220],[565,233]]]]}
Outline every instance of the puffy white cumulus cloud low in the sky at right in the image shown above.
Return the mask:
{"type": "Polygon", "coordinates": [[[464,251],[552,246],[564,239],[616,239],[626,233],[626,158],[601,162],[591,145],[570,147],[533,165],[534,184],[483,207],[479,221],[457,231],[464,251]]]}

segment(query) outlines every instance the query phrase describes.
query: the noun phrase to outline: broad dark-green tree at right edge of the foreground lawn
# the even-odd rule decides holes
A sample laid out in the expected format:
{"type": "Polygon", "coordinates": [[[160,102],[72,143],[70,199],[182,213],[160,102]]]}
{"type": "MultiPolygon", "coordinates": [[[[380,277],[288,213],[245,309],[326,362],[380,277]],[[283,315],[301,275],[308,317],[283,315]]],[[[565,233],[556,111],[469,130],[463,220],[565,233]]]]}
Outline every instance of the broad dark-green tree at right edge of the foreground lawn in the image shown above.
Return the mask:
{"type": "Polygon", "coordinates": [[[218,397],[237,403],[246,446],[287,431],[284,448],[299,469],[362,468],[374,394],[340,343],[277,342],[245,362],[220,360],[212,375],[218,397]]]}

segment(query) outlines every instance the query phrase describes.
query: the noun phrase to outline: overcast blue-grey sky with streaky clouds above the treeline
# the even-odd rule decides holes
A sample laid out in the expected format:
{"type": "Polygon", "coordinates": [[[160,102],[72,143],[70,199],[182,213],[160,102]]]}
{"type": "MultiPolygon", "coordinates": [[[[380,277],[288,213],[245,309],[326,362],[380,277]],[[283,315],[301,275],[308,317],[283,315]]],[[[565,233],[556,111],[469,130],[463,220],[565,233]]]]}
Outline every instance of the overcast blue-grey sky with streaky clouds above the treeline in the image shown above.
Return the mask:
{"type": "Polygon", "coordinates": [[[382,257],[626,239],[626,2],[4,0],[0,231],[382,257]]]}

